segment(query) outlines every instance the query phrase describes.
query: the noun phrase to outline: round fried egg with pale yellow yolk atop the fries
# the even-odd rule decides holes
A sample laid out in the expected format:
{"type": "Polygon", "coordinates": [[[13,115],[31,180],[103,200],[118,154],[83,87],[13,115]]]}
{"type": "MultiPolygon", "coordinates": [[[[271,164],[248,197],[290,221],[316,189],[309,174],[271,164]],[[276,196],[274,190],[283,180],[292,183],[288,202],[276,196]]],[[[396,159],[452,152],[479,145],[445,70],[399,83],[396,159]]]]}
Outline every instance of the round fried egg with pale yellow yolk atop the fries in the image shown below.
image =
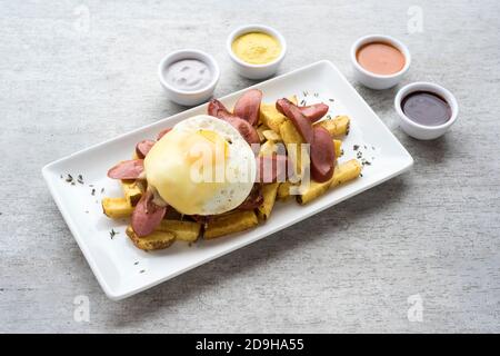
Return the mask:
{"type": "Polygon", "coordinates": [[[144,159],[148,185],[186,215],[217,215],[238,207],[256,181],[251,147],[228,122],[200,115],[164,135],[144,159]]]}

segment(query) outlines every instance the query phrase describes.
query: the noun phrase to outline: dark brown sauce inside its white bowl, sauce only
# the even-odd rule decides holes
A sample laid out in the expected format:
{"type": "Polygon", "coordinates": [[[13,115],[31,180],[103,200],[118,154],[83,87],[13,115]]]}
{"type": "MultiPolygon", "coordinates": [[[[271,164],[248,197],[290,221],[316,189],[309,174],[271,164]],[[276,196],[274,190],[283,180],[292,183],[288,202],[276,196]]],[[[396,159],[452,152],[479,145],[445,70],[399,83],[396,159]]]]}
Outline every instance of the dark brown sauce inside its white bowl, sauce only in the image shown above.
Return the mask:
{"type": "Polygon", "coordinates": [[[439,126],[451,119],[451,107],[439,95],[431,91],[410,92],[401,101],[404,115],[424,126],[439,126]]]}

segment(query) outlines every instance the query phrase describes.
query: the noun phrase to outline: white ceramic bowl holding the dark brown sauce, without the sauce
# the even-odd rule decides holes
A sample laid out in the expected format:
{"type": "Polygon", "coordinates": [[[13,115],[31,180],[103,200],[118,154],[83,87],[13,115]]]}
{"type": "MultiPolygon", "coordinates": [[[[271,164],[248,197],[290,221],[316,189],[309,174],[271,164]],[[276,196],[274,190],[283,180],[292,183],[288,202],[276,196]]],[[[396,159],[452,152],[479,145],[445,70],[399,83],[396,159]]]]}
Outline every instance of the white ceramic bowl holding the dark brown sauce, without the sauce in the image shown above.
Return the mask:
{"type": "Polygon", "coordinates": [[[409,136],[419,140],[433,140],[444,135],[454,123],[454,121],[457,121],[457,117],[459,113],[457,99],[449,90],[432,82],[423,81],[413,82],[401,88],[396,96],[394,107],[400,117],[399,125],[401,129],[409,136]],[[411,120],[408,116],[404,115],[401,102],[408,95],[414,91],[430,91],[443,98],[451,108],[451,118],[446,123],[439,126],[424,126],[411,120]]]}

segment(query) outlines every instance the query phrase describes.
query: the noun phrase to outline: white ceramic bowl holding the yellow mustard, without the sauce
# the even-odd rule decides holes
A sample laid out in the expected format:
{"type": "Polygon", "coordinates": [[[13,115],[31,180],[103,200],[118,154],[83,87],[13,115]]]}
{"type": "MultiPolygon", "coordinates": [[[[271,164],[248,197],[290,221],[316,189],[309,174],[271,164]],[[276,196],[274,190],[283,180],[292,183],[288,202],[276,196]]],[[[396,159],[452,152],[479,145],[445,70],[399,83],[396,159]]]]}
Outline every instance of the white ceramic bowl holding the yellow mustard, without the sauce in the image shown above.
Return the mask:
{"type": "Polygon", "coordinates": [[[249,79],[264,79],[273,76],[278,71],[278,67],[280,66],[281,61],[284,58],[284,53],[287,52],[287,42],[284,41],[284,37],[281,36],[280,32],[274,30],[273,28],[269,26],[263,24],[248,24],[237,28],[234,31],[232,31],[228,40],[226,42],[226,48],[228,50],[229,57],[231,58],[238,73],[242,77],[249,78],[249,79]],[[274,59],[272,62],[266,63],[266,65],[251,65],[247,63],[246,61],[239,59],[234,52],[232,51],[232,42],[234,39],[237,39],[239,36],[242,36],[244,33],[249,32],[263,32],[268,33],[272,37],[274,37],[281,46],[281,53],[280,56],[274,59]]]}

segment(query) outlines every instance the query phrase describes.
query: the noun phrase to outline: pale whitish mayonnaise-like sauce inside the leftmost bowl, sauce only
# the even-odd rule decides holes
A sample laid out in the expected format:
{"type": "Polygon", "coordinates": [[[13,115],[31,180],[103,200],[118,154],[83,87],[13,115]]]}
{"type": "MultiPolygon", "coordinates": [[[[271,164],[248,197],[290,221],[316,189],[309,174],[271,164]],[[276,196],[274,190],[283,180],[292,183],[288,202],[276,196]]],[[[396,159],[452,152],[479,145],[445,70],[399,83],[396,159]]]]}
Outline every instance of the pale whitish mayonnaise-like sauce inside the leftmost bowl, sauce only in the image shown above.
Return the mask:
{"type": "Polygon", "coordinates": [[[182,59],[167,67],[167,82],[176,89],[194,91],[206,88],[212,80],[210,68],[198,59],[182,59]]]}

